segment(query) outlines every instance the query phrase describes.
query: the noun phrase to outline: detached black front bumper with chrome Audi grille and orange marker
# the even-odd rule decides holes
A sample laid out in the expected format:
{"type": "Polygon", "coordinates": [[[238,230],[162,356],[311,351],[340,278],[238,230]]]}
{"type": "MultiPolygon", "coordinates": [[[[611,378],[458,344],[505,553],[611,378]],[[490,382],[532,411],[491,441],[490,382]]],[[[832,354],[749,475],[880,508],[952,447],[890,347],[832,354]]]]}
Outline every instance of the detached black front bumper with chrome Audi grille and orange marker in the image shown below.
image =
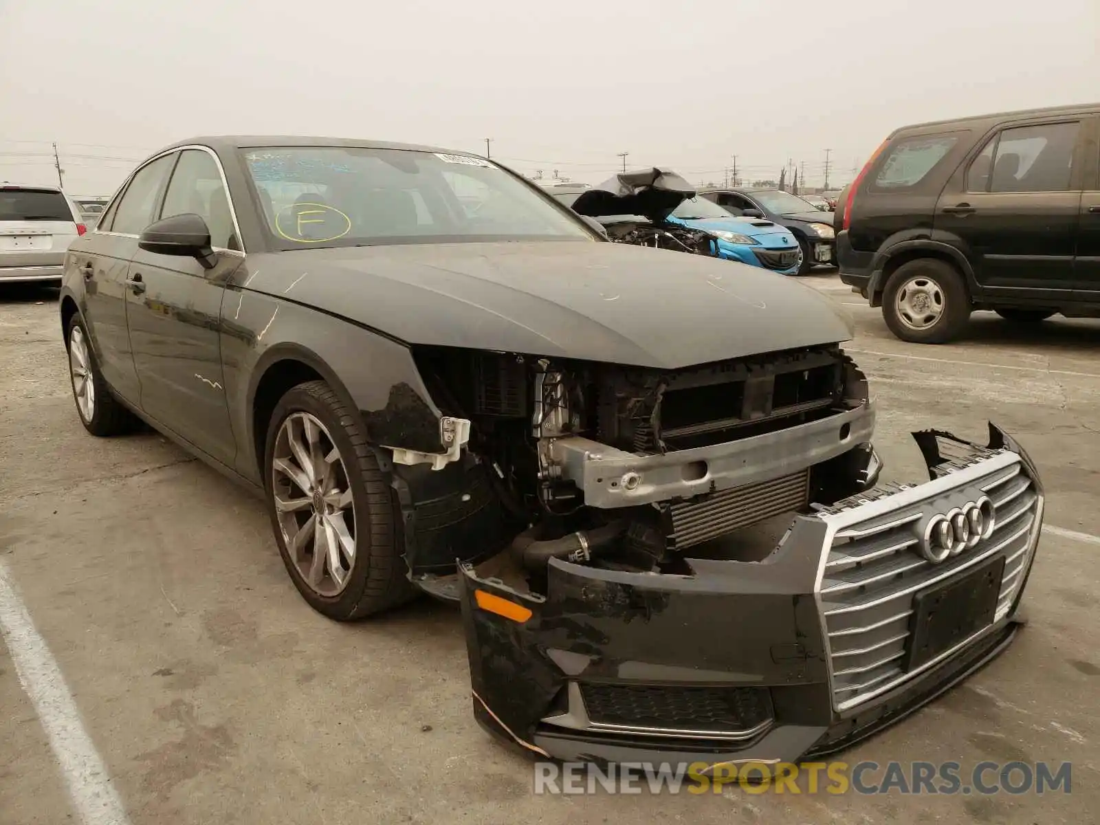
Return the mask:
{"type": "Polygon", "coordinates": [[[930,481],[799,515],[760,562],[689,559],[673,575],[556,560],[544,596],[463,565],[479,722],[557,759],[774,765],[939,695],[1014,635],[1043,492],[992,425],[988,447],[914,437],[930,481]],[[961,543],[932,561],[956,535],[941,516],[961,543]]]}

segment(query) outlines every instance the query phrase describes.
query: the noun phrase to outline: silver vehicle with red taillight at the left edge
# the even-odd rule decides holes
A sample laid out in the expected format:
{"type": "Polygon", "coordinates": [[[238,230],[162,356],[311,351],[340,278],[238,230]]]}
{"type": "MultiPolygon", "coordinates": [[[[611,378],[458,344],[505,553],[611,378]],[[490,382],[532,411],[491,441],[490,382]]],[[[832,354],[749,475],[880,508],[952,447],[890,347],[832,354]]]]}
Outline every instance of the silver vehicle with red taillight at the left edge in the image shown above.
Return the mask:
{"type": "Polygon", "coordinates": [[[55,186],[0,183],[0,283],[62,280],[65,252],[87,231],[55,186]]]}

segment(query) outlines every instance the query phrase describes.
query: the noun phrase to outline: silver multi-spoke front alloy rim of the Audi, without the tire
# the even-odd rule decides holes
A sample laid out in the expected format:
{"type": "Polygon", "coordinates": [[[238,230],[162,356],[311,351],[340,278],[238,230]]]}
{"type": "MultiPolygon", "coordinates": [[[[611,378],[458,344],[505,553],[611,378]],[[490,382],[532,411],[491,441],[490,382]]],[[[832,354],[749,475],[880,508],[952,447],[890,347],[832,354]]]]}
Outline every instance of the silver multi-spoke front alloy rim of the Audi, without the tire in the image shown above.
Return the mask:
{"type": "Polygon", "coordinates": [[[340,451],[309,413],[293,413],[279,426],[272,495],[301,580],[319,595],[339,595],[355,564],[355,505],[340,451]]]}

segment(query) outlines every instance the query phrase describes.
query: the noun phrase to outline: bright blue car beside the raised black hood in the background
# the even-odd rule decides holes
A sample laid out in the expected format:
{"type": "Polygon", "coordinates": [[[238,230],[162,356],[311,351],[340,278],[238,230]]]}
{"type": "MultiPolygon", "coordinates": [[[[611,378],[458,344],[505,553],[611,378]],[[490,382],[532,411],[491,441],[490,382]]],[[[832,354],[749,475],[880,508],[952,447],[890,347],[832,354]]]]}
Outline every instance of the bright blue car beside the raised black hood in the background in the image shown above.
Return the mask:
{"type": "Polygon", "coordinates": [[[713,234],[717,257],[782,275],[794,275],[802,265],[802,248],[789,229],[769,220],[738,218],[703,197],[689,198],[664,220],[713,234]]]}

